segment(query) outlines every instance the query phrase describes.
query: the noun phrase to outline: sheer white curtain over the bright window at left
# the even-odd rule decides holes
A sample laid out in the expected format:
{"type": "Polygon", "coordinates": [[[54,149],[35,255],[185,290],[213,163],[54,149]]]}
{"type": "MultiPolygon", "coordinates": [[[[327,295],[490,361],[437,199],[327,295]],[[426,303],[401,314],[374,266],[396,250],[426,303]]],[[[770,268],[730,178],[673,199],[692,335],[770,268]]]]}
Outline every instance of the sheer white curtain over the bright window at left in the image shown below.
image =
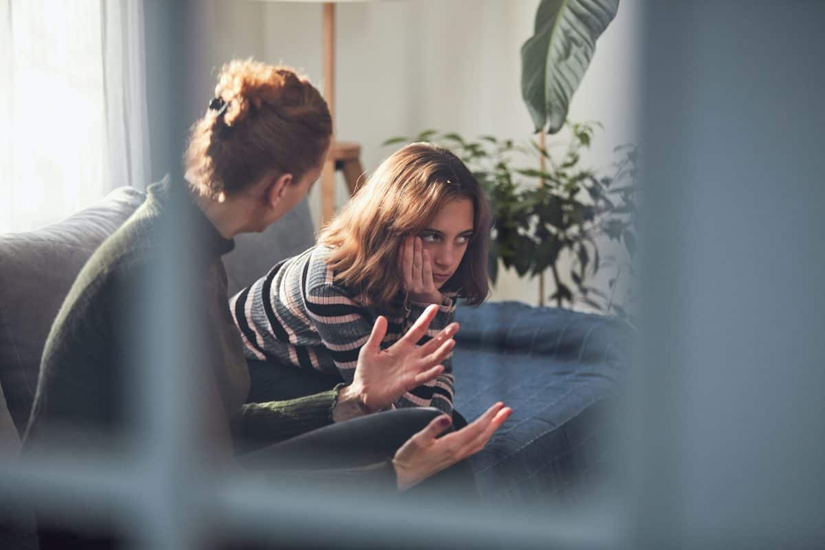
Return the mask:
{"type": "Polygon", "coordinates": [[[144,186],[141,2],[0,0],[0,25],[0,233],[144,186]]]}

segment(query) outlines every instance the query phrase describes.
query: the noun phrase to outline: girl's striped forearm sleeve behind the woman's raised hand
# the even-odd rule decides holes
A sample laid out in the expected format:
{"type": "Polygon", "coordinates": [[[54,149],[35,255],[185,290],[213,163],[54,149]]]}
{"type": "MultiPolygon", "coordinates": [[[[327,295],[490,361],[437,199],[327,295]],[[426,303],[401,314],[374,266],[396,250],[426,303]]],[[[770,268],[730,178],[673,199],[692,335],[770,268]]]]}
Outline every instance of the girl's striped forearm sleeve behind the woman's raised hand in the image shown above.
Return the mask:
{"type": "MultiPolygon", "coordinates": [[[[424,313],[424,310],[428,305],[429,304],[427,303],[409,303],[409,311],[405,315],[403,321],[403,331],[405,333],[410,327],[413,326],[413,323],[416,322],[417,318],[424,313]]],[[[444,301],[438,308],[436,317],[430,323],[430,328],[427,330],[427,334],[422,336],[422,339],[418,341],[418,345],[423,346],[426,344],[434,336],[437,336],[438,332],[441,331],[442,328],[446,327],[454,320],[455,297],[445,296],[444,301]]],[[[395,402],[395,407],[436,407],[437,409],[446,412],[448,415],[452,414],[453,396],[455,395],[455,390],[453,389],[455,377],[452,374],[452,354],[450,354],[450,357],[446,360],[441,361],[441,364],[444,365],[444,372],[442,374],[436,377],[435,380],[404,393],[403,396],[395,402]]]]}

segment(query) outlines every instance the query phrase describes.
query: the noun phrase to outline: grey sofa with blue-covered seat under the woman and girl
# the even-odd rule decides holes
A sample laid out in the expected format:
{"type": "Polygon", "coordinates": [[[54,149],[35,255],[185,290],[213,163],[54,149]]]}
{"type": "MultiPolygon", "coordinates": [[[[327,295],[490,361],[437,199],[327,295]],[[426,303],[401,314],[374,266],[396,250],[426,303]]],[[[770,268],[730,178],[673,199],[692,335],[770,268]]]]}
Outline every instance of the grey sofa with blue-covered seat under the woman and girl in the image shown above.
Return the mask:
{"type": "MultiPolygon", "coordinates": [[[[143,200],[121,187],[60,223],[0,236],[0,451],[20,447],[45,339],[75,276],[143,200]]],[[[225,257],[230,293],[313,242],[305,201],[265,233],[238,237],[225,257]]],[[[472,458],[483,498],[532,505],[592,480],[606,460],[595,434],[625,377],[629,328],[512,302],[460,307],[457,317],[456,409],[470,419],[496,401],[514,409],[472,458]]]]}

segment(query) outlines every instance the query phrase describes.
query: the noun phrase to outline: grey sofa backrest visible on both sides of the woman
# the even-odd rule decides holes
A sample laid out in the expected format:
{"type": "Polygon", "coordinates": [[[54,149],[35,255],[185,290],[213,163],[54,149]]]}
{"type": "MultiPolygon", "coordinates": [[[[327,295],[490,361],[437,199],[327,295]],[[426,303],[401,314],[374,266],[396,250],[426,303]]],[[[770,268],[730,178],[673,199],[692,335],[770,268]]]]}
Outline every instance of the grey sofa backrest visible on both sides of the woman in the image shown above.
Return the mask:
{"type": "MultiPolygon", "coordinates": [[[[26,429],[51,323],[83,264],[144,201],[131,187],[112,190],[98,204],[62,222],[28,233],[0,235],[0,427],[11,416],[26,429]]],[[[224,258],[230,292],[264,275],[277,261],[314,242],[306,200],[264,233],[241,235],[224,258]]],[[[0,432],[2,440],[6,432],[0,432]]]]}

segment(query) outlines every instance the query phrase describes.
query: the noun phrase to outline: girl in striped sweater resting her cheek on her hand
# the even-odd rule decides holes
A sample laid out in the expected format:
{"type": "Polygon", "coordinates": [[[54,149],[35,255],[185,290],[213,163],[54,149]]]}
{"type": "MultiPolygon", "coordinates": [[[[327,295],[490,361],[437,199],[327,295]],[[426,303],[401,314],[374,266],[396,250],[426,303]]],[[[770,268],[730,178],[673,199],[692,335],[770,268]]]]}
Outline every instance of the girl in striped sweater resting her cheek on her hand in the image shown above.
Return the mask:
{"type": "MultiPolygon", "coordinates": [[[[389,322],[382,345],[391,346],[436,304],[425,343],[453,322],[456,299],[474,304],[487,297],[488,229],[485,196],[458,157],[429,143],[401,148],[323,229],[318,246],[276,265],[230,300],[247,358],[265,361],[252,361],[253,379],[266,380],[266,370],[287,364],[330,375],[327,385],[349,382],[378,316],[389,322]]],[[[450,414],[454,378],[450,360],[443,365],[442,374],[404,393],[392,408],[450,414]]],[[[303,379],[323,387],[323,377],[303,379]]]]}

